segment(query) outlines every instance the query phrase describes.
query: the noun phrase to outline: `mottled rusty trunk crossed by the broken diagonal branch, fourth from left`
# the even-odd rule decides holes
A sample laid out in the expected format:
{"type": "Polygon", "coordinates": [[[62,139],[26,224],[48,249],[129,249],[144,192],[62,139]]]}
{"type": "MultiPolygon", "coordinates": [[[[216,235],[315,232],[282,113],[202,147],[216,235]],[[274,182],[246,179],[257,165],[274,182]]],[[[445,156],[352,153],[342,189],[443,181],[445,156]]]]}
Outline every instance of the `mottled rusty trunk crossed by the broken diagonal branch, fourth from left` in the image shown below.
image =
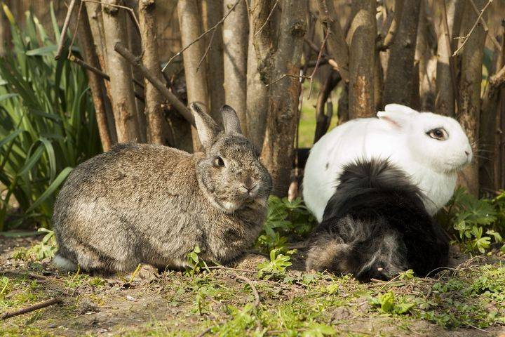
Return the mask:
{"type": "MultiPolygon", "coordinates": [[[[156,74],[156,77],[163,81],[161,75],[158,36],[156,32],[156,1],[139,1],[139,23],[140,35],[142,39],[142,63],[147,69],[156,74]]],[[[145,117],[147,119],[147,141],[154,144],[164,144],[162,129],[162,107],[163,95],[154,88],[147,79],[145,86],[145,117]]]]}

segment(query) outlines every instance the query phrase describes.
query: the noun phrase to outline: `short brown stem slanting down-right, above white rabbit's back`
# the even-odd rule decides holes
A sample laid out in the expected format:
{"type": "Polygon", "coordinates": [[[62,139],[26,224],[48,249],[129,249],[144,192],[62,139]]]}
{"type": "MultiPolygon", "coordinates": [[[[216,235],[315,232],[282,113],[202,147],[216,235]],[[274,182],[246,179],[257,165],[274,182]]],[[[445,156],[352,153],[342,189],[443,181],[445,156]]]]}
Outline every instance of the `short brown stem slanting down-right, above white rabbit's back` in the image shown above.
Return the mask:
{"type": "Polygon", "coordinates": [[[318,0],[319,20],[323,24],[323,33],[329,31],[326,46],[328,53],[337,62],[337,70],[344,81],[349,81],[349,47],[346,44],[344,31],[340,27],[335,6],[332,0],[318,0]]]}

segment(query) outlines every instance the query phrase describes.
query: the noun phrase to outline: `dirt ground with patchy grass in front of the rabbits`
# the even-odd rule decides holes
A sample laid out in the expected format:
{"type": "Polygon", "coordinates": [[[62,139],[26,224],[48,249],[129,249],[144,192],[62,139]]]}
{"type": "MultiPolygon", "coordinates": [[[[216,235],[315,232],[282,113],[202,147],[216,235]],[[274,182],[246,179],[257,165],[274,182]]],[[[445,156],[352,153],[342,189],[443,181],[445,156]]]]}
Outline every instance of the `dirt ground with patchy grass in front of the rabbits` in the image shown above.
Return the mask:
{"type": "MultiPolygon", "coordinates": [[[[479,324],[478,317],[472,316],[478,310],[483,310],[482,317],[488,317],[488,312],[504,315],[500,303],[475,302],[480,298],[457,302],[458,291],[463,291],[457,286],[449,296],[454,312],[451,305],[435,303],[441,292],[436,282],[452,284],[459,279],[360,284],[349,277],[301,272],[303,254],[299,253],[283,279],[260,279],[257,264],[267,258],[250,254],[237,270],[159,275],[143,266],[130,281],[130,275],[62,274],[49,259],[13,258],[16,251],[39,239],[0,236],[0,316],[50,298],[61,298],[62,303],[0,322],[0,336],[505,336],[505,320],[492,318],[485,327],[470,324],[479,324]],[[257,290],[257,305],[247,282],[257,290]],[[372,298],[387,291],[398,301],[413,296],[416,306],[403,315],[379,310],[372,298]],[[430,303],[429,309],[423,301],[430,303]],[[468,310],[459,309],[458,303],[469,306],[468,310]],[[458,315],[461,322],[470,323],[454,326],[458,315]],[[450,319],[454,322],[447,325],[450,319]]],[[[501,266],[504,261],[465,259],[453,253],[454,272],[501,266]]],[[[467,278],[460,276],[464,284],[467,278]]]]}

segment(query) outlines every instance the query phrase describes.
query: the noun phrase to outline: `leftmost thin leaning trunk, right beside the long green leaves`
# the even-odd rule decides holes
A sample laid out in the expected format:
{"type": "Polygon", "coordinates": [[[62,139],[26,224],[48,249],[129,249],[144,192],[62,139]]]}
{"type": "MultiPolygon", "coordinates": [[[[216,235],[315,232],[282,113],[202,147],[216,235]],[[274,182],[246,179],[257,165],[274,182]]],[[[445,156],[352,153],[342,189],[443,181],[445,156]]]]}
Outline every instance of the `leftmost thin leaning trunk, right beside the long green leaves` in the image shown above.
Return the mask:
{"type": "MultiPolygon", "coordinates": [[[[85,62],[88,63],[88,65],[92,65],[93,67],[100,69],[100,62],[98,61],[98,56],[93,44],[93,34],[91,34],[88,15],[86,13],[86,6],[83,6],[82,11],[82,17],[81,20],[79,20],[79,27],[77,29],[79,44],[81,45],[81,52],[83,54],[85,62]]],[[[105,96],[103,95],[105,89],[104,80],[94,72],[88,71],[88,84],[90,86],[93,104],[95,105],[98,133],[100,133],[102,148],[105,152],[107,152],[112,147],[112,139],[107,126],[105,96]]]]}

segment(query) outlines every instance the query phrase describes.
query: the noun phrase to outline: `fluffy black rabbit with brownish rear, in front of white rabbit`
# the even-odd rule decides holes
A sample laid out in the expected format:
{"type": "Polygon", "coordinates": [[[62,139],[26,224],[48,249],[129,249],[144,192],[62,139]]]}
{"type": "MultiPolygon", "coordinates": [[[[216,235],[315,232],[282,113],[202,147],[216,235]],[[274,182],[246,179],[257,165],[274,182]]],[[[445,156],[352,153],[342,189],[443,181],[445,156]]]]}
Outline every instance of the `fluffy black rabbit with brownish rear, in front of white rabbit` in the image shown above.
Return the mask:
{"type": "Polygon", "coordinates": [[[307,271],[370,281],[409,269],[424,277],[447,265],[447,235],[405,172],[384,159],[358,159],[344,166],[339,180],[309,238],[307,271]]]}

